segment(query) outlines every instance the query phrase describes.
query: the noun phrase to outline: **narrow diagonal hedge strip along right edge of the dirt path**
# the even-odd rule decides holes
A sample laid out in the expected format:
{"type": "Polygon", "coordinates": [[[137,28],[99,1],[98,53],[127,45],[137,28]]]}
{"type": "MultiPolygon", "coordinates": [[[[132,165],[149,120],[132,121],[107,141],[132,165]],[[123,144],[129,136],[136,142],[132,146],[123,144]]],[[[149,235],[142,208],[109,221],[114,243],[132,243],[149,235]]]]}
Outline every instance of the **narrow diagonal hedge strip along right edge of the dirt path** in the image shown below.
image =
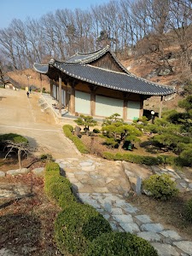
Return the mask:
{"type": "Polygon", "coordinates": [[[70,140],[73,141],[73,143],[78,148],[80,153],[82,153],[82,154],[89,153],[88,148],[86,148],[86,146],[84,145],[84,143],[82,143],[82,141],[79,139],[79,137],[76,137],[75,135],[73,135],[73,133],[72,133],[72,131],[70,131],[68,125],[63,125],[62,129],[63,129],[63,132],[66,135],[66,137],[68,137],[70,140]]]}

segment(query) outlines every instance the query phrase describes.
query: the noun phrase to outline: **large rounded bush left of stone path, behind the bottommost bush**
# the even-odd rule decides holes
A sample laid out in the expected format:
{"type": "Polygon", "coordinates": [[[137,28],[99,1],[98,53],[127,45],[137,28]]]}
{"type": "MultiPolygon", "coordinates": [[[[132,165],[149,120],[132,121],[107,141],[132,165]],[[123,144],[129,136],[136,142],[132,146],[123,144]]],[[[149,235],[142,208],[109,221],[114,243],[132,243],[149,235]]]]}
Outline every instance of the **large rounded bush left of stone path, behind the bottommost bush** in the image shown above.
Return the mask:
{"type": "Polygon", "coordinates": [[[89,205],[74,203],[55,219],[55,241],[65,255],[84,255],[90,241],[110,232],[108,221],[89,205]]]}

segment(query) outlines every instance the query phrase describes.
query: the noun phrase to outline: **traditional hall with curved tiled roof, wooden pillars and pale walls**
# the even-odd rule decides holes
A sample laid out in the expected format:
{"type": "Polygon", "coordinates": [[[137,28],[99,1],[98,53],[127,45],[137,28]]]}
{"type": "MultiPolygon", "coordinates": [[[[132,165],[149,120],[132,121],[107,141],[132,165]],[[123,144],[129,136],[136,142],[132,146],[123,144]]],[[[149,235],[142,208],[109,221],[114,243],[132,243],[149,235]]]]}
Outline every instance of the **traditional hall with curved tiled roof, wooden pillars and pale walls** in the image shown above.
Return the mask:
{"type": "Polygon", "coordinates": [[[143,116],[143,101],[175,93],[170,86],[141,79],[119,62],[107,46],[96,52],[77,53],[67,61],[51,59],[48,64],[34,64],[34,69],[50,79],[50,95],[59,102],[59,109],[70,114],[105,118],[119,113],[125,121],[143,116]]]}

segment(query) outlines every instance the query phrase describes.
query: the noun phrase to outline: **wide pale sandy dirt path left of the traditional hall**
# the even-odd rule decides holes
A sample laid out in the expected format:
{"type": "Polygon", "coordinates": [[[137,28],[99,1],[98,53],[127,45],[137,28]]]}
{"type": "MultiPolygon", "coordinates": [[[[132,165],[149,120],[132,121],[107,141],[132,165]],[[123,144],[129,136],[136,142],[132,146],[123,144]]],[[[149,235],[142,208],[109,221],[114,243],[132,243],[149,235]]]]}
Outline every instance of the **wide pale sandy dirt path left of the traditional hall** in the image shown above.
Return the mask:
{"type": "Polygon", "coordinates": [[[49,153],[56,159],[77,157],[79,154],[63,136],[61,125],[55,123],[49,108],[41,109],[39,97],[39,93],[27,98],[24,90],[0,89],[0,134],[18,133],[33,147],[40,147],[41,154],[49,153]]]}

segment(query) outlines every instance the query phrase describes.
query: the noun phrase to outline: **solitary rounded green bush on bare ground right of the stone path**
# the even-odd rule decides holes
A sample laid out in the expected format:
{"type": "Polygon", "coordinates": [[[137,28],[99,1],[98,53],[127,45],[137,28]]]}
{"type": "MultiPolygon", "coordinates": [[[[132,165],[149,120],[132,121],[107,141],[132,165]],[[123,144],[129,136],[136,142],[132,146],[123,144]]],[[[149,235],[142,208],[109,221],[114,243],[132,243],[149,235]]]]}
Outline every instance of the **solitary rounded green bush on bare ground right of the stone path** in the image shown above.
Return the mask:
{"type": "Polygon", "coordinates": [[[154,174],[143,180],[143,189],[148,191],[155,199],[162,201],[169,200],[177,195],[178,189],[176,185],[166,173],[161,175],[154,174]]]}

